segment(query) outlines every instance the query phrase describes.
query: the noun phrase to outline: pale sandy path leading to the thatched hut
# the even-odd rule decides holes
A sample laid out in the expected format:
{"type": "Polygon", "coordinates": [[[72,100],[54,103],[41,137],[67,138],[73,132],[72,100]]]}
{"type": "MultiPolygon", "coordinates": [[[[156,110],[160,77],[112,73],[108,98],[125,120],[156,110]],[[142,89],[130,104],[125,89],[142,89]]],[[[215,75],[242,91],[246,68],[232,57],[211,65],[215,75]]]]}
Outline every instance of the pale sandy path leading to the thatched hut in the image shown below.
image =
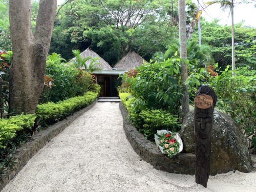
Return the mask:
{"type": "Polygon", "coordinates": [[[157,171],[133,151],[118,103],[97,103],[41,149],[2,192],[256,192],[256,172],[211,177],[157,171]]]}

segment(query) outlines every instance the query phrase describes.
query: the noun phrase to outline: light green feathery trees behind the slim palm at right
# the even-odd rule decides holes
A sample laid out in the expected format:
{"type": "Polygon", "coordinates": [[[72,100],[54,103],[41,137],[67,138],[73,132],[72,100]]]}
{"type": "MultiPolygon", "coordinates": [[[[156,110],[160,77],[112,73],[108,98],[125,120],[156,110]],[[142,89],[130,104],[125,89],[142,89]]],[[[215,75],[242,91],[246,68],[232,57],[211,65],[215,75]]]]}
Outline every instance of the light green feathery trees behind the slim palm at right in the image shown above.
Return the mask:
{"type": "MultiPolygon", "coordinates": [[[[215,63],[224,70],[232,62],[231,27],[218,24],[218,21],[202,23],[202,43],[210,45],[215,63]]],[[[192,34],[197,39],[198,33],[192,34]]],[[[235,24],[235,65],[256,69],[255,28],[235,24]]]]}

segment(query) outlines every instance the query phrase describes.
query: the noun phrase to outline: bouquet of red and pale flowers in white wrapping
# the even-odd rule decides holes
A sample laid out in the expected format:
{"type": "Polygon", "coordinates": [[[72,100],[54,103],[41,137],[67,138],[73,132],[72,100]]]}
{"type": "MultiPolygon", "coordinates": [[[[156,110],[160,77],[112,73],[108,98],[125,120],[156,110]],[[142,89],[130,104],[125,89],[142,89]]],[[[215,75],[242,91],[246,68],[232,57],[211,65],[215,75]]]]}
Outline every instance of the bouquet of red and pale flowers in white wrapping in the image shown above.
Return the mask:
{"type": "Polygon", "coordinates": [[[158,130],[155,134],[156,146],[163,154],[172,157],[183,149],[183,143],[179,133],[172,133],[167,130],[158,130]]]}

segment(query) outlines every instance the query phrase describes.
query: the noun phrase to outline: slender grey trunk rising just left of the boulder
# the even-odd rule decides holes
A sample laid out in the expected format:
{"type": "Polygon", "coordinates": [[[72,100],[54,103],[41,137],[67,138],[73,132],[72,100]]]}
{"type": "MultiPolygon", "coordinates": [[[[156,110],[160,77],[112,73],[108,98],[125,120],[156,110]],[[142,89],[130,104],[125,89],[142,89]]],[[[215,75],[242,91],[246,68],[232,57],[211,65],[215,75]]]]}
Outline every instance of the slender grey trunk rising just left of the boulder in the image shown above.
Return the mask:
{"type": "Polygon", "coordinates": [[[187,59],[185,0],[179,0],[179,39],[181,58],[181,81],[183,85],[182,115],[184,117],[190,111],[188,86],[184,84],[184,82],[188,78],[188,67],[185,64],[185,60],[187,59]]]}

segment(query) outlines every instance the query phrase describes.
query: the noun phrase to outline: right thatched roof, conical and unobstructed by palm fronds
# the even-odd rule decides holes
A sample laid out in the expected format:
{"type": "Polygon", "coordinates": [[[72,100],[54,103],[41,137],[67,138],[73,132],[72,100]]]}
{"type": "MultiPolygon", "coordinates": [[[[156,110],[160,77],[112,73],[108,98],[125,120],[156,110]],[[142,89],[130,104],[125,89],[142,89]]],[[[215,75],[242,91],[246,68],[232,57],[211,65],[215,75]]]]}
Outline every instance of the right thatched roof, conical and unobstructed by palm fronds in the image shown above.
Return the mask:
{"type": "MultiPolygon", "coordinates": [[[[128,54],[123,57],[117,64],[113,66],[117,70],[132,70],[136,66],[140,66],[145,61],[140,55],[135,53],[134,51],[129,51],[128,54]]],[[[145,61],[146,62],[146,61],[145,61]]]]}

